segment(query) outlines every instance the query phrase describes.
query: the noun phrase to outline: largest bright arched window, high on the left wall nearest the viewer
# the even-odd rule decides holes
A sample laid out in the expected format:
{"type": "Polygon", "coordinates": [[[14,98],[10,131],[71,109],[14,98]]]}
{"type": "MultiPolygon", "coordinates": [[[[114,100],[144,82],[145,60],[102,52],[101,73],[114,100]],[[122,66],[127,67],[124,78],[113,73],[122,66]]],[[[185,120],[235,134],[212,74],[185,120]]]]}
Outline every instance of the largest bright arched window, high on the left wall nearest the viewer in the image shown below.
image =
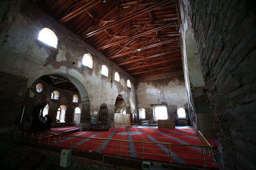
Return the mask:
{"type": "Polygon", "coordinates": [[[49,28],[43,28],[40,31],[38,35],[38,40],[46,43],[49,46],[54,47],[55,49],[57,48],[58,38],[56,34],[49,28]]]}

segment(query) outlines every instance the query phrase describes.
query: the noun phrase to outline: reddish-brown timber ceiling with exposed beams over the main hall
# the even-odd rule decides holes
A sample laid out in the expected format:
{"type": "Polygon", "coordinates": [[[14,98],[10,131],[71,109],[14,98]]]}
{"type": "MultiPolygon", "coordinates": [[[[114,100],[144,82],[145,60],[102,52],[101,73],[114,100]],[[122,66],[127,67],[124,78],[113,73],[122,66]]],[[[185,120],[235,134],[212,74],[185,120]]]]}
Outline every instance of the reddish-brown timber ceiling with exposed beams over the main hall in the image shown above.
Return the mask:
{"type": "Polygon", "coordinates": [[[182,70],[175,0],[106,1],[35,3],[134,78],[182,70]]]}

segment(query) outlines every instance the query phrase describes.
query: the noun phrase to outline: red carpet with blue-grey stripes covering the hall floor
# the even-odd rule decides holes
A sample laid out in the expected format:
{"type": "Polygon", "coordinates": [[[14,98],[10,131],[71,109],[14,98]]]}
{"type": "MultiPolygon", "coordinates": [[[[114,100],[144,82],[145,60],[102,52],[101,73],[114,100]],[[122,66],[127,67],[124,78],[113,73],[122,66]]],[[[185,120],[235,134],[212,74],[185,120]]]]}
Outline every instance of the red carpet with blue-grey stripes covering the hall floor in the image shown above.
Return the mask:
{"type": "MultiPolygon", "coordinates": [[[[41,138],[40,143],[74,148],[105,154],[120,154],[120,142],[110,140],[97,140],[81,137],[108,138],[129,141],[167,142],[173,144],[202,145],[193,129],[148,129],[148,128],[111,128],[109,131],[74,131],[77,127],[54,128],[44,131],[48,134],[62,134],[68,136],[49,135],[41,138]],[[71,137],[69,136],[75,136],[71,137]],[[60,141],[60,143],[58,142],[60,141]],[[84,141],[86,143],[84,144],[84,141]]],[[[38,136],[38,134],[36,135],[38,136]]],[[[35,137],[35,136],[34,136],[35,137]]],[[[214,143],[214,140],[210,140],[214,143]]],[[[215,142],[217,143],[217,142],[215,142]]],[[[170,162],[169,145],[155,143],[121,142],[121,156],[170,162]]],[[[207,167],[218,168],[212,165],[212,158],[204,150],[207,167]]],[[[201,147],[171,146],[171,161],[177,164],[191,164],[203,166],[201,147]]]]}

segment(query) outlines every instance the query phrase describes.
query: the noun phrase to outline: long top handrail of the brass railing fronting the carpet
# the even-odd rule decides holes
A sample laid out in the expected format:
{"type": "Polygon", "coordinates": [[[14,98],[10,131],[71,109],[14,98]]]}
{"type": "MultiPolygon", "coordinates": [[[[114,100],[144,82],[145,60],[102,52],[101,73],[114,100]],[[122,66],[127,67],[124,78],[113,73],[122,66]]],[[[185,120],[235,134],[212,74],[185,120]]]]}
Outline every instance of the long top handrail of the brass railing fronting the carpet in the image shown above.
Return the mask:
{"type": "MultiPolygon", "coordinates": [[[[96,139],[96,140],[121,141],[121,142],[154,143],[154,144],[162,144],[162,145],[177,145],[177,146],[192,146],[192,147],[212,148],[212,146],[208,146],[208,145],[190,145],[190,144],[179,144],[179,143],[168,143],[168,142],[131,141],[131,140],[119,140],[119,139],[109,139],[109,138],[99,138],[99,137],[84,137],[84,136],[70,136],[70,135],[48,134],[48,133],[33,133],[33,134],[44,134],[44,135],[49,135],[49,136],[58,135],[58,136],[88,138],[88,139],[96,139]]],[[[44,137],[44,136],[41,136],[41,138],[42,137],[44,137]]]]}

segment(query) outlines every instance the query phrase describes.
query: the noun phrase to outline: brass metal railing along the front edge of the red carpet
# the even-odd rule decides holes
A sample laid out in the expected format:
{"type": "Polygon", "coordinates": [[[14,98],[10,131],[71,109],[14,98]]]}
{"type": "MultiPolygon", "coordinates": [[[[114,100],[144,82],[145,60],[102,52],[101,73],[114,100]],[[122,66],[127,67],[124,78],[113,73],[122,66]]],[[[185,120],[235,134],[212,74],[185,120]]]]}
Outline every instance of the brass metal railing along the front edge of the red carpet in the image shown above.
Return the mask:
{"type": "Polygon", "coordinates": [[[92,150],[94,150],[94,152],[98,153],[102,153],[103,151],[104,154],[113,154],[119,156],[129,156],[130,153],[134,153],[138,155],[138,158],[145,158],[149,160],[156,160],[156,158],[161,158],[163,162],[170,163],[177,159],[184,159],[188,162],[188,164],[192,165],[194,160],[201,160],[201,165],[203,165],[204,167],[207,167],[207,165],[209,165],[209,162],[212,165],[215,165],[212,146],[210,146],[209,142],[206,140],[206,138],[203,137],[201,132],[199,132],[199,134],[199,139],[202,141],[202,145],[118,140],[111,138],[81,137],[24,131],[18,132],[17,135],[18,137],[35,138],[38,143],[44,145],[73,148],[83,151],[92,152],[92,150]],[[132,142],[133,145],[129,145],[130,142],[132,142]],[[178,148],[180,147],[182,147],[183,149],[179,150],[178,148]],[[188,150],[186,149],[188,147],[197,147],[201,149],[194,149],[194,152],[188,152],[188,150]],[[159,152],[155,153],[156,151],[159,152]]]}

